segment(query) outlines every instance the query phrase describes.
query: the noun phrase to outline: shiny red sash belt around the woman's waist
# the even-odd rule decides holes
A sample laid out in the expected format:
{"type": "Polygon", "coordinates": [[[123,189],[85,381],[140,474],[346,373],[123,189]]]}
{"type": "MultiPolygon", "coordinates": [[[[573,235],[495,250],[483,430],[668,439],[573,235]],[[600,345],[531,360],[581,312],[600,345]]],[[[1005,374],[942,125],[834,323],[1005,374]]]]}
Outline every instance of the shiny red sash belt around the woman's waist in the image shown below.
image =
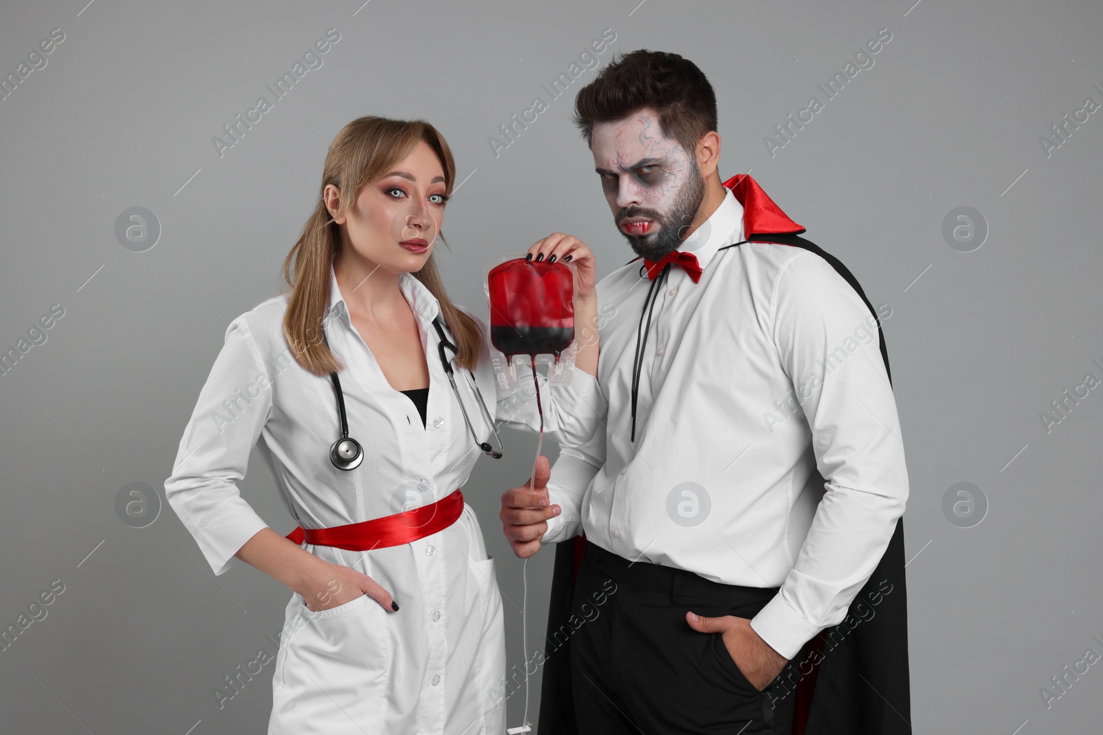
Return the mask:
{"type": "Polygon", "coordinates": [[[456,488],[451,495],[420,508],[373,518],[360,523],[333,528],[302,528],[287,534],[292,543],[336,547],[346,551],[371,551],[383,547],[397,547],[442,531],[463,512],[463,494],[456,488]]]}

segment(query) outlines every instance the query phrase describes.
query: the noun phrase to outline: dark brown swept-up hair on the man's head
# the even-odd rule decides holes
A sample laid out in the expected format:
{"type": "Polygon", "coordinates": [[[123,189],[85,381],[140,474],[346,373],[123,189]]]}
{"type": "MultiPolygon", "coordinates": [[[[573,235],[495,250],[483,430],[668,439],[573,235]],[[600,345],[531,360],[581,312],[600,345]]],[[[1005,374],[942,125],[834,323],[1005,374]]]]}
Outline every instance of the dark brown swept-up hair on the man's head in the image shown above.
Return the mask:
{"type": "Polygon", "coordinates": [[[593,125],[612,122],[650,107],[661,132],[678,141],[690,156],[697,141],[716,130],[716,93],[704,72],[688,58],[640,48],[613,56],[575,97],[574,122],[593,150],[593,125]]]}

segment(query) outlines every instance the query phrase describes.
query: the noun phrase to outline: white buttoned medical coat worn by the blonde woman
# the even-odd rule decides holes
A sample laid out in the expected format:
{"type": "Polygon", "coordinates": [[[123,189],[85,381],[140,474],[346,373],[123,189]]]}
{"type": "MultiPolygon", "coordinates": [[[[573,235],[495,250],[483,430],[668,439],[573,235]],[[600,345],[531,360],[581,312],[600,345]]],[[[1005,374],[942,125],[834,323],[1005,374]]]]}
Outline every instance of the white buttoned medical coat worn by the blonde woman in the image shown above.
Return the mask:
{"type": "MultiPolygon", "coordinates": [[[[350,436],[365,452],[351,472],[336,469],[329,457],[340,435],[329,376],[303,370],[288,349],[281,326],[286,296],[265,301],[226,329],[164,484],[169,504],[215,574],[234,565],[234,553],[267,526],[236,486],[255,444],[289,514],[303,528],[389,516],[439,500],[467,482],[482,452],[440,363],[432,327],[437,300],[413,275],[404,274],[400,288],[417,317],[429,369],[425,426],[352,327],[330,271],[325,334],[346,366],[340,378],[350,436]]],[[[523,367],[518,372],[517,388],[496,390],[489,346],[474,370],[492,418],[535,430],[535,400],[524,397],[533,394],[532,374],[523,367]],[[525,378],[529,390],[522,393],[525,378]]],[[[456,380],[485,441],[491,428],[465,370],[457,370],[456,380]]],[[[575,407],[557,401],[558,392],[540,391],[546,432],[569,432],[561,418],[575,407]]],[[[516,480],[503,478],[501,487],[471,491],[497,494],[516,480]]],[[[293,527],[290,519],[272,520],[278,528],[293,527]]],[[[410,543],[368,552],[304,548],[370,575],[390,591],[400,609],[384,610],[363,595],[312,613],[292,594],[272,678],[269,735],[504,733],[502,598],[494,560],[470,506],[452,526],[410,543]]]]}

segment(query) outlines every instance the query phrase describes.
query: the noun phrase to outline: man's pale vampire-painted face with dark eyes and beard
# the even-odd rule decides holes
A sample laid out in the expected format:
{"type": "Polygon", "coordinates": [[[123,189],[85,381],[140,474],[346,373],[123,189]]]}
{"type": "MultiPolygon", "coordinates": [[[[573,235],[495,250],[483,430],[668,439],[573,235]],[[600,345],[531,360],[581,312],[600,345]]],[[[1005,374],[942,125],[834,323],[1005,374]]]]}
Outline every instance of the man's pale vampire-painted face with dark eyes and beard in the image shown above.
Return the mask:
{"type": "Polygon", "coordinates": [[[632,250],[658,260],[677,249],[705,196],[695,151],[664,136],[657,114],[644,108],[593,126],[593,163],[632,250]]]}

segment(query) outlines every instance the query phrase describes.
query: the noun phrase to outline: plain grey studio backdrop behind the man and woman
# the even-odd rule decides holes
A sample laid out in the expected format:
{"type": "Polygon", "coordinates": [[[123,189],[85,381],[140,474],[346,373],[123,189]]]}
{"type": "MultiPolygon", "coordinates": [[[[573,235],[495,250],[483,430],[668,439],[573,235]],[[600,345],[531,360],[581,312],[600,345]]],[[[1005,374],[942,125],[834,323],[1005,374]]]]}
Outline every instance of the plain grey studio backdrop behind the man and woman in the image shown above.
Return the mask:
{"type": "MultiPolygon", "coordinates": [[[[488,262],[553,230],[608,272],[631,257],[592,159],[569,125],[575,90],[497,158],[497,126],[531,106],[587,44],[674,51],[719,98],[721,174],[751,175],[838,256],[885,332],[903,439],[914,732],[1097,732],[1103,666],[1047,709],[1039,689],[1103,638],[1099,440],[1103,389],[1047,433],[1039,412],[1103,377],[1097,225],[1103,111],[1047,158],[1039,137],[1085,97],[1103,102],[1097,2],[7,2],[0,72],[61,28],[65,40],[0,101],[0,346],[60,303],[64,316],[7,375],[0,467],[0,624],[54,580],[65,591],[0,651],[0,722],[34,733],[257,733],[271,664],[219,710],[212,690],[281,625],[288,591],[240,564],[213,577],[171,509],[124,523],[130,483],[163,496],[184,423],[231,318],[278,290],[317,196],[328,142],[365,114],[424,117],[452,145],[456,301],[484,307],[488,262]],[[326,29],[341,40],[219,158],[211,142],[326,29]],[[892,40],[771,156],[763,137],[867,39],[892,40]],[[185,185],[186,184],[186,185],[185,185]],[[156,247],[115,220],[143,206],[156,247]],[[951,248],[946,215],[977,209],[983,247],[951,248]],[[918,280],[917,280],[918,278],[918,280]],[[946,490],[987,499],[971,528],[946,490]]],[[[610,51],[600,55],[602,64],[610,51]]],[[[478,510],[521,661],[521,561],[499,498],[527,476],[535,437],[480,462],[478,510]]],[[[555,447],[549,446],[555,455],[555,447]]],[[[323,447],[319,447],[322,451],[323,447]]],[[[244,496],[291,519],[255,456],[244,496]]],[[[540,645],[553,554],[529,564],[540,645]]],[[[1071,679],[1070,679],[1071,681],[1071,679]]],[[[532,681],[529,717],[539,703],[532,681]]],[[[520,723],[524,694],[508,701],[520,723]]]]}

